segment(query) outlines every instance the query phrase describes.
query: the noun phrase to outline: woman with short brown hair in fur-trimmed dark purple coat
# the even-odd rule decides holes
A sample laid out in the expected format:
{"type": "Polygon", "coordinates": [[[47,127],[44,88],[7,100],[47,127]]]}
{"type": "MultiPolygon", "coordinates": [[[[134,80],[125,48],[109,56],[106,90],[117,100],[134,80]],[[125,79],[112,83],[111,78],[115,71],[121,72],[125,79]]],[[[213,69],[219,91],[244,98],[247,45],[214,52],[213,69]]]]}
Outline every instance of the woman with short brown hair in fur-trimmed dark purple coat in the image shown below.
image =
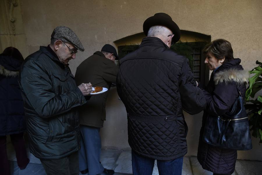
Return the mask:
{"type": "Polygon", "coordinates": [[[207,116],[225,114],[238,98],[239,90],[245,96],[249,73],[240,65],[241,60],[233,57],[231,44],[224,39],[217,39],[203,49],[205,63],[213,70],[206,89],[203,89],[207,105],[204,110],[200,130],[197,159],[203,169],[214,175],[232,174],[235,169],[237,151],[222,149],[203,142],[203,130],[207,116]]]}

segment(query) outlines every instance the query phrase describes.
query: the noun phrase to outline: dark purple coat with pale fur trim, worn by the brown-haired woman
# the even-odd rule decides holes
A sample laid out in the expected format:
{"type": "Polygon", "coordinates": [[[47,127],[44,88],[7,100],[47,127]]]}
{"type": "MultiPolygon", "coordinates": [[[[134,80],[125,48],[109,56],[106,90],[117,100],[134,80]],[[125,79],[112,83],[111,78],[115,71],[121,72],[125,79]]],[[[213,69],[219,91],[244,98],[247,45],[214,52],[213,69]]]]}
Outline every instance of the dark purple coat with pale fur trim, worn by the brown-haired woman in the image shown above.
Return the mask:
{"type": "Polygon", "coordinates": [[[207,105],[204,110],[202,128],[200,130],[197,159],[203,169],[217,174],[232,174],[235,169],[237,151],[220,149],[202,141],[203,130],[208,115],[218,116],[229,110],[239,96],[237,86],[245,97],[249,73],[240,65],[240,59],[233,59],[222,64],[211,74],[206,90],[203,90],[207,105]]]}

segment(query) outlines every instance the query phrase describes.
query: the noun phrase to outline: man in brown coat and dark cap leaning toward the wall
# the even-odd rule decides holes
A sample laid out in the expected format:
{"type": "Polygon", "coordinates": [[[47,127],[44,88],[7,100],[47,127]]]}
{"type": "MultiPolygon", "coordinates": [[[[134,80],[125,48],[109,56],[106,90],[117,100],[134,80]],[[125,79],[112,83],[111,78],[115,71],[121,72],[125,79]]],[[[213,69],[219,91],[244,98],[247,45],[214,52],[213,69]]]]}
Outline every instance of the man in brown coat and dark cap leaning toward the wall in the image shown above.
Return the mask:
{"type": "MultiPolygon", "coordinates": [[[[75,74],[75,81],[91,82],[93,87],[101,86],[110,89],[111,83],[116,82],[118,66],[114,60],[118,59],[116,49],[109,44],[102,47],[84,60],[75,74]]],[[[112,175],[114,170],[105,169],[100,163],[101,137],[100,128],[106,119],[105,102],[108,91],[92,96],[88,102],[79,108],[81,149],[79,151],[79,170],[82,174],[112,175]]]]}

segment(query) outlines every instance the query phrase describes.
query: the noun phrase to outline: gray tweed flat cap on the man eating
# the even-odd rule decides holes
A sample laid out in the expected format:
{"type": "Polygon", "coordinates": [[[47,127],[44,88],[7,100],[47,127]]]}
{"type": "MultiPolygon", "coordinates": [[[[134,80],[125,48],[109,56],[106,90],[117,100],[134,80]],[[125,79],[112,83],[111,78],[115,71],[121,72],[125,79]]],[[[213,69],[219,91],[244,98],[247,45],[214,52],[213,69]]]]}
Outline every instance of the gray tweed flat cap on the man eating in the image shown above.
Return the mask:
{"type": "Polygon", "coordinates": [[[55,38],[67,43],[72,43],[75,47],[77,47],[78,50],[85,50],[75,32],[66,26],[56,27],[51,35],[51,38],[55,38]]]}

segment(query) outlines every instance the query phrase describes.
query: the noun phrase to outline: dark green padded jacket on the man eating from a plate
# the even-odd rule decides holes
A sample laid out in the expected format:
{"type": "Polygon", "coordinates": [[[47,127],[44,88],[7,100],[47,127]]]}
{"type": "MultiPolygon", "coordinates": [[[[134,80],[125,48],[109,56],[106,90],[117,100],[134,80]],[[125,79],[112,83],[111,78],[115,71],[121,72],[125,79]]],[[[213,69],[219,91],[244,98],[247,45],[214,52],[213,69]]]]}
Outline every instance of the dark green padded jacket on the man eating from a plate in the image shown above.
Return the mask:
{"type": "Polygon", "coordinates": [[[40,46],[25,59],[19,77],[30,152],[52,160],[78,151],[79,116],[75,107],[86,99],[70,68],[50,47],[40,46]]]}

